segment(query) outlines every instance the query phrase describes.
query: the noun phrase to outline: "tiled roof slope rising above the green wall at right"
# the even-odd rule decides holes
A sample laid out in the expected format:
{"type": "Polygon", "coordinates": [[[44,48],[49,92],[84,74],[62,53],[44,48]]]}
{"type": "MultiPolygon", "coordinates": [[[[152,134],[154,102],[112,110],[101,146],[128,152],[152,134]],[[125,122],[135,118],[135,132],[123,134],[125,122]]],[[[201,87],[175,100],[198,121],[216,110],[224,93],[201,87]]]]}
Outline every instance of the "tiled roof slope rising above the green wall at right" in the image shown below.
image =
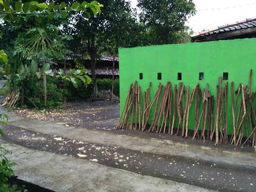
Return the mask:
{"type": "Polygon", "coordinates": [[[195,33],[191,35],[192,40],[197,37],[205,37],[210,35],[216,35],[218,33],[226,33],[229,31],[238,31],[242,29],[249,29],[256,27],[256,17],[253,17],[251,19],[245,19],[243,21],[236,21],[235,23],[229,23],[226,25],[221,25],[219,27],[216,27],[215,29],[209,29],[206,31],[202,31],[199,33],[195,33]]]}

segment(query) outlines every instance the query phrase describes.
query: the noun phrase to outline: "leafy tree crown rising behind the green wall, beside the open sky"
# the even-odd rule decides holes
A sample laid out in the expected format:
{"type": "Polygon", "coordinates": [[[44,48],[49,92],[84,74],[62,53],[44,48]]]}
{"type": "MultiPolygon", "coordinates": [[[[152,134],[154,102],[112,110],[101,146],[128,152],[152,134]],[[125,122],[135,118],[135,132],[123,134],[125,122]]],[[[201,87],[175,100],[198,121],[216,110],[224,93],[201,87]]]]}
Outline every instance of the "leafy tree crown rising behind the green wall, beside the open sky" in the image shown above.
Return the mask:
{"type": "Polygon", "coordinates": [[[139,0],[139,19],[145,24],[149,45],[179,43],[185,21],[195,14],[192,0],[139,0]]]}

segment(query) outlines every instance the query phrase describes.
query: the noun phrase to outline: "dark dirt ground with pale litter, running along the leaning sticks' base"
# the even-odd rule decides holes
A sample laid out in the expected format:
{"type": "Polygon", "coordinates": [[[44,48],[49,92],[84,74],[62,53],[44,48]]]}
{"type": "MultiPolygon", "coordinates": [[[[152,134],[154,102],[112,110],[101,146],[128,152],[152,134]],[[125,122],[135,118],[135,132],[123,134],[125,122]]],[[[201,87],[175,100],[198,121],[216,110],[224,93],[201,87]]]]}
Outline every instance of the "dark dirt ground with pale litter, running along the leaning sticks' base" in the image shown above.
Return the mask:
{"type": "Polygon", "coordinates": [[[184,143],[193,143],[197,145],[205,145],[211,147],[221,147],[223,149],[231,149],[237,151],[247,151],[254,153],[253,147],[245,145],[244,147],[228,144],[219,144],[215,146],[212,141],[203,141],[201,139],[192,140],[191,137],[184,139],[176,135],[168,135],[163,133],[147,133],[131,130],[131,129],[115,129],[119,119],[119,103],[110,103],[109,101],[97,102],[71,102],[67,107],[59,110],[37,111],[29,109],[15,109],[14,112],[22,117],[31,117],[39,121],[57,121],[65,122],[66,126],[74,126],[79,128],[91,128],[103,131],[111,131],[116,134],[139,135],[140,137],[154,137],[158,139],[167,139],[172,141],[180,141],[184,143]]]}

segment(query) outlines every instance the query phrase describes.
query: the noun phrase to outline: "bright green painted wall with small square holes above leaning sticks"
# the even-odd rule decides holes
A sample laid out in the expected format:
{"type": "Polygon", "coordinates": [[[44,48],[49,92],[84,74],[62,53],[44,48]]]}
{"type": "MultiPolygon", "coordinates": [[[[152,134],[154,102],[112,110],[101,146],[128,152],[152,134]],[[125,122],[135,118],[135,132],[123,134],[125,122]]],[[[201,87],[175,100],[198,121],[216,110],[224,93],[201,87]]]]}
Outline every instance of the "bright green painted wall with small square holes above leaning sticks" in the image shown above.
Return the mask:
{"type": "MultiPolygon", "coordinates": [[[[182,73],[182,82],[190,86],[190,91],[199,83],[205,88],[209,83],[212,95],[216,95],[218,77],[223,72],[229,73],[228,119],[229,133],[233,129],[231,115],[231,81],[235,90],[239,83],[248,85],[249,70],[253,69],[252,91],[256,91],[256,39],[236,39],[230,41],[211,41],[206,43],[183,43],[175,45],[158,45],[119,49],[120,67],[120,109],[127,96],[129,85],[135,80],[141,85],[142,91],[153,83],[153,98],[159,82],[166,85],[171,81],[172,88],[177,81],[177,73],[182,73]],[[204,79],[199,81],[199,72],[204,79]],[[139,80],[139,73],[143,79],[139,80]],[[162,80],[157,80],[157,73],[162,73],[162,80]]],[[[225,81],[223,81],[224,85],[225,81]]],[[[215,97],[216,98],[216,97],[215,97]]],[[[193,129],[193,117],[190,118],[190,129],[193,129]]]]}

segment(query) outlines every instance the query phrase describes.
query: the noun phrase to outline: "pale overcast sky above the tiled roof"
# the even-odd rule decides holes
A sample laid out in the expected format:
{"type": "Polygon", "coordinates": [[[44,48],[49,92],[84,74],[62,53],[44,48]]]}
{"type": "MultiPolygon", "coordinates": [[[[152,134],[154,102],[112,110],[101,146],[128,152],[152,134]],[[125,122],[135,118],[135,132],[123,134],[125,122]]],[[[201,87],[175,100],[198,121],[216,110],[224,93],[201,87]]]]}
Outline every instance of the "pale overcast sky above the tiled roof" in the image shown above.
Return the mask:
{"type": "MultiPolygon", "coordinates": [[[[255,0],[194,0],[197,13],[187,25],[198,32],[219,25],[256,17],[255,0]]],[[[137,0],[131,0],[136,7],[137,0]]]]}

